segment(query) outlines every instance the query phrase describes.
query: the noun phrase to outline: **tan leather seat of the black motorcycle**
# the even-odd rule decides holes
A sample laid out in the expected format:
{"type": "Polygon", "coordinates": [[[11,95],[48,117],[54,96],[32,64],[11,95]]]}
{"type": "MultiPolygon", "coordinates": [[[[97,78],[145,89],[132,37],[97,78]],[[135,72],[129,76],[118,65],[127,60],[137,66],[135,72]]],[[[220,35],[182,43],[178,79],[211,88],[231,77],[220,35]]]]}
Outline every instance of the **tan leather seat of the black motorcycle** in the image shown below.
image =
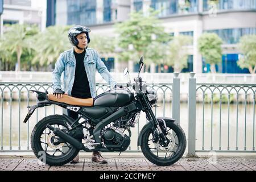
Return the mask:
{"type": "Polygon", "coordinates": [[[93,106],[93,98],[76,98],[63,94],[63,98],[56,98],[53,94],[48,94],[48,98],[51,101],[61,102],[68,105],[76,106],[93,106]]]}

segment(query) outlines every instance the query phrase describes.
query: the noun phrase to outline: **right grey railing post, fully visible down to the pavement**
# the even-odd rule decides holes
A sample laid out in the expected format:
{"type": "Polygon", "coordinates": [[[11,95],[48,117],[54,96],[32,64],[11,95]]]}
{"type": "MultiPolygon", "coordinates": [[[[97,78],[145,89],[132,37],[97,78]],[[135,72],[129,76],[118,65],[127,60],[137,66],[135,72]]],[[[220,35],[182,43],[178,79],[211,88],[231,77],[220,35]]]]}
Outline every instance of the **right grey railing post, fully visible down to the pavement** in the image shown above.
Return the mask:
{"type": "Polygon", "coordinates": [[[188,82],[188,154],[187,158],[198,158],[196,155],[196,78],[189,73],[188,82]]]}

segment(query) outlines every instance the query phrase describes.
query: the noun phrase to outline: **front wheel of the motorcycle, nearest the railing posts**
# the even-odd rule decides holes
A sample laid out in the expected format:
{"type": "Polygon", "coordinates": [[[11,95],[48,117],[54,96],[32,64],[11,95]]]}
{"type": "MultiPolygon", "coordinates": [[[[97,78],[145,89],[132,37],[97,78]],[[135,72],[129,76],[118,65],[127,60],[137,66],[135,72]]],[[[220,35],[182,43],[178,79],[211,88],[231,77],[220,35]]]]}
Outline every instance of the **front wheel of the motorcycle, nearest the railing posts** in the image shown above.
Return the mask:
{"type": "Polygon", "coordinates": [[[158,166],[170,166],[176,163],[184,154],[187,145],[185,133],[175,122],[166,122],[170,140],[168,146],[161,146],[160,140],[153,142],[152,128],[148,127],[142,134],[141,150],[144,156],[158,166]]]}

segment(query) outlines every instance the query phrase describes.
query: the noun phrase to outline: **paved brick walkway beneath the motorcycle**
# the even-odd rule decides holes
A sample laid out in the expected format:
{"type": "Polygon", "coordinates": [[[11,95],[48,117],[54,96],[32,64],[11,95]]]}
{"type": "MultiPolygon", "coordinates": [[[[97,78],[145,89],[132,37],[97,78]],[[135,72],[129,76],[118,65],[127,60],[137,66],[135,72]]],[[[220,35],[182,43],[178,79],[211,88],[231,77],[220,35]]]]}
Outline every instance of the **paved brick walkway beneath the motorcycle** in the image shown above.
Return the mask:
{"type": "Polygon", "coordinates": [[[160,167],[150,163],[139,155],[104,155],[108,164],[97,164],[90,161],[90,156],[80,156],[80,163],[65,164],[64,166],[48,166],[42,164],[34,157],[25,156],[1,156],[0,171],[256,171],[256,155],[254,156],[217,156],[212,158],[201,157],[197,159],[181,158],[179,162],[160,167]]]}

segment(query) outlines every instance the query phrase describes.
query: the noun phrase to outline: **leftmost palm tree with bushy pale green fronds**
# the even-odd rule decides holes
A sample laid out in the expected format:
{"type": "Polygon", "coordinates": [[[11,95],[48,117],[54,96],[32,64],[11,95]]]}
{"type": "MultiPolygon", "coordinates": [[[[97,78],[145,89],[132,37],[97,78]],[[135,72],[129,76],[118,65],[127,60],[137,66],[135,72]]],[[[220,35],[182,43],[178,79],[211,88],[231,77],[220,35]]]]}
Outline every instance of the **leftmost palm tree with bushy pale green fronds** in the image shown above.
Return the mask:
{"type": "Polygon", "coordinates": [[[30,38],[38,34],[38,32],[39,30],[36,26],[30,27],[27,24],[13,24],[3,34],[1,47],[11,54],[15,53],[16,60],[18,61],[18,71],[20,71],[20,57],[24,49],[30,51],[32,47],[30,38]]]}

